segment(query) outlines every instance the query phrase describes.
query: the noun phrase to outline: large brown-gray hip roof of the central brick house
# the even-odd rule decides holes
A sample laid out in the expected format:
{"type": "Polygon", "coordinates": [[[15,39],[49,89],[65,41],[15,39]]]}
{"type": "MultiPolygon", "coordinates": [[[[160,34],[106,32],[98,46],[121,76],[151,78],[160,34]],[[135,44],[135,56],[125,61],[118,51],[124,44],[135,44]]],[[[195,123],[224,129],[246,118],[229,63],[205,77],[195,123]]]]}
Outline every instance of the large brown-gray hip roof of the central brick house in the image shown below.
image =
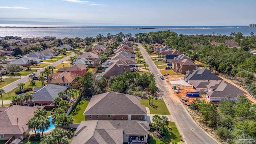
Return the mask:
{"type": "Polygon", "coordinates": [[[90,114],[147,114],[140,97],[119,92],[106,92],[92,96],[84,115],[90,114]]]}

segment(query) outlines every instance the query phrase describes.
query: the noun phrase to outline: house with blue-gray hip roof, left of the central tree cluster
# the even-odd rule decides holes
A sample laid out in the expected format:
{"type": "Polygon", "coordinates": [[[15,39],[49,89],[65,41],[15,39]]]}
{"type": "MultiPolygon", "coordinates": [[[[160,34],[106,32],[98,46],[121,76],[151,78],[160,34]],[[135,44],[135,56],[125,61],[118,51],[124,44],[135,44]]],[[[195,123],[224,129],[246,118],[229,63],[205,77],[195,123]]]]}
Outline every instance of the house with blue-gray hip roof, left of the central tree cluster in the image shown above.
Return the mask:
{"type": "MultiPolygon", "coordinates": [[[[31,93],[34,98],[32,102],[28,101],[28,103],[31,105],[50,105],[53,103],[54,98],[58,97],[58,93],[67,92],[68,87],[56,84],[47,84],[46,86],[34,89],[36,92],[31,93]]],[[[22,96],[23,94],[18,96],[22,96]]]]}

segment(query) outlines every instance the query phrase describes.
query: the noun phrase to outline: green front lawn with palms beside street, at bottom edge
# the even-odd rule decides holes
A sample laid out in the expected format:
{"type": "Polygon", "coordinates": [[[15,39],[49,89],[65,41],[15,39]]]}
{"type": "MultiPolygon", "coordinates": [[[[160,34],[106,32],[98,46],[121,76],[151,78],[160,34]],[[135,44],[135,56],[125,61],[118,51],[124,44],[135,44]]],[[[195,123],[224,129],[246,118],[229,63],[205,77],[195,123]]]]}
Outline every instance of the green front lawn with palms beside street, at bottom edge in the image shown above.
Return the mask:
{"type": "MultiPolygon", "coordinates": [[[[168,126],[172,127],[172,131],[168,129],[169,134],[164,136],[162,139],[155,138],[154,136],[150,136],[151,144],[169,144],[169,142],[173,142],[177,144],[180,142],[180,133],[174,122],[169,122],[168,126]]],[[[150,131],[152,135],[152,131],[150,131]]]]}

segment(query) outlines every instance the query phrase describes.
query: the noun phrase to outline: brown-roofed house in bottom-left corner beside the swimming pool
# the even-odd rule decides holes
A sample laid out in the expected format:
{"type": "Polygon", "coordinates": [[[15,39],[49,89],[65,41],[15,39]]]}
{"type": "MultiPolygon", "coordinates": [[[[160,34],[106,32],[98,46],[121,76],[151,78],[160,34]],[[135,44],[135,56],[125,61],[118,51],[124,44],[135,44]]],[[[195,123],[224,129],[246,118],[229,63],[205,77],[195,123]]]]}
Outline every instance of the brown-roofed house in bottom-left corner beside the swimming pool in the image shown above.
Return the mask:
{"type": "MultiPolygon", "coordinates": [[[[24,139],[29,135],[28,120],[34,116],[38,106],[0,107],[0,140],[24,139]]],[[[42,107],[43,108],[43,107],[42,107]]]]}

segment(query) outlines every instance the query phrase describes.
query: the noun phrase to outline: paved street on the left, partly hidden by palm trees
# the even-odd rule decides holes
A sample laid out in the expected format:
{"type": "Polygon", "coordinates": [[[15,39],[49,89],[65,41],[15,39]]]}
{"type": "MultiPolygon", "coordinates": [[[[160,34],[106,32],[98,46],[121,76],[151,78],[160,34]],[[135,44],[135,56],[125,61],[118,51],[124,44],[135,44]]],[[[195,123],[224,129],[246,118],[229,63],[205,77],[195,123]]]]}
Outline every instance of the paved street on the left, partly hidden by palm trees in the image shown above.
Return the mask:
{"type": "MultiPolygon", "coordinates": [[[[70,56],[75,56],[75,54],[71,54],[70,56]]],[[[69,59],[70,56],[66,56],[66,58],[62,58],[61,60],[58,60],[57,62],[54,62],[48,66],[57,66],[58,64],[60,64],[62,61],[64,62],[65,60],[69,59]]],[[[46,66],[47,67],[47,66],[46,66]]],[[[44,68],[46,68],[44,67],[44,68]]],[[[44,71],[44,68],[40,68],[40,70],[38,70],[36,73],[36,76],[38,76],[40,74],[40,72],[44,71]]],[[[11,91],[12,89],[16,88],[17,87],[17,84],[20,84],[20,83],[25,83],[29,80],[29,75],[28,76],[24,76],[24,77],[21,77],[20,80],[16,80],[15,82],[12,82],[11,84],[8,84],[7,86],[4,86],[2,87],[1,89],[5,90],[5,92],[9,92],[11,91]]]]}

